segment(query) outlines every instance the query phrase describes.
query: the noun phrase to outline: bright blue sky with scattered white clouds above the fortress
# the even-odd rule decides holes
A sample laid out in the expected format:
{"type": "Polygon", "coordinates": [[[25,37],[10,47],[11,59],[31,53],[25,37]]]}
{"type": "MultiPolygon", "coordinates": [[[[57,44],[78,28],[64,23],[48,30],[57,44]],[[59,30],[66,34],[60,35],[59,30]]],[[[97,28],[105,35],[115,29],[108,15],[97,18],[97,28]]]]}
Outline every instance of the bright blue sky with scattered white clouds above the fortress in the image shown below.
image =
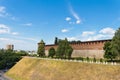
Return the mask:
{"type": "Polygon", "coordinates": [[[43,39],[111,39],[120,27],[120,0],[0,0],[0,48],[37,50],[43,39]]]}

